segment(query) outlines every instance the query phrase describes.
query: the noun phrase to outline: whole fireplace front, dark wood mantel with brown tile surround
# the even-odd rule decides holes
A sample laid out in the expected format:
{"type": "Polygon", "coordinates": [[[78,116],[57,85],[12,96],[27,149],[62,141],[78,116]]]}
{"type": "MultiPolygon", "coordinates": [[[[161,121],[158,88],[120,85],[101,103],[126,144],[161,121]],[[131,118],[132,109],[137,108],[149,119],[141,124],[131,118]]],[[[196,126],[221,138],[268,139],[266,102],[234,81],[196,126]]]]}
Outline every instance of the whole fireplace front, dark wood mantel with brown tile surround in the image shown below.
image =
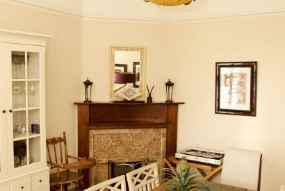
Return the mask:
{"type": "Polygon", "coordinates": [[[148,160],[163,167],[176,151],[178,105],[181,103],[76,102],[78,156],[93,157],[97,166],[85,170],[84,185],[108,179],[108,160],[148,160]]]}

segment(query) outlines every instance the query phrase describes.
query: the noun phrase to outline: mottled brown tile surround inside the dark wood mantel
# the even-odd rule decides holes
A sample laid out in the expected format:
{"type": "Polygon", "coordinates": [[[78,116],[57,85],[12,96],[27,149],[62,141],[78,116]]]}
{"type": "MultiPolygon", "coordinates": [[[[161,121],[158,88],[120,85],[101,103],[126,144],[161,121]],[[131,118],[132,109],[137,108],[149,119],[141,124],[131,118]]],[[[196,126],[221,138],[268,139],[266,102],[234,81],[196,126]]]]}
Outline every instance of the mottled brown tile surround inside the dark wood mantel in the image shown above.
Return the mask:
{"type": "Polygon", "coordinates": [[[166,128],[90,130],[89,141],[89,156],[97,160],[89,176],[92,185],[108,180],[109,160],[157,162],[158,171],[164,164],[166,128]]]}

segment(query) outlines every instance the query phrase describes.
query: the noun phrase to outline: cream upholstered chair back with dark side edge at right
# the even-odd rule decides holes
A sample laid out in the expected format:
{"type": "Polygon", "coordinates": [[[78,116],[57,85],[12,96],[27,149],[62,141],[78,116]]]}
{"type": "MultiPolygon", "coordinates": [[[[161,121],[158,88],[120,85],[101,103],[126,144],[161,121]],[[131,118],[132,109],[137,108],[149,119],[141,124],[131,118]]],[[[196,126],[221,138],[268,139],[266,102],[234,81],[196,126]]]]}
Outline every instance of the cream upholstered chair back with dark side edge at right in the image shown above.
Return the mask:
{"type": "Polygon", "coordinates": [[[258,151],[227,148],[220,183],[259,191],[261,159],[258,151]]]}

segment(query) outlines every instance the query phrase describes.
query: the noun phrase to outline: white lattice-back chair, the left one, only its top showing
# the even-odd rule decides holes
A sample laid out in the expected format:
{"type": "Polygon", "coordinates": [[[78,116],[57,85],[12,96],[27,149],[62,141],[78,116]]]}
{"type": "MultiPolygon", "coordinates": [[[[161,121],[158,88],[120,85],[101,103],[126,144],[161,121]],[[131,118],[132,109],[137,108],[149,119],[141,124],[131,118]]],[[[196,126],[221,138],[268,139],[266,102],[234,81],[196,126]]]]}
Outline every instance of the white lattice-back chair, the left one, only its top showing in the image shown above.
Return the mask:
{"type": "Polygon", "coordinates": [[[84,190],[84,191],[127,191],[126,189],[126,178],[124,175],[117,176],[115,178],[111,178],[108,181],[104,181],[97,185],[93,185],[92,187],[84,190]]]}

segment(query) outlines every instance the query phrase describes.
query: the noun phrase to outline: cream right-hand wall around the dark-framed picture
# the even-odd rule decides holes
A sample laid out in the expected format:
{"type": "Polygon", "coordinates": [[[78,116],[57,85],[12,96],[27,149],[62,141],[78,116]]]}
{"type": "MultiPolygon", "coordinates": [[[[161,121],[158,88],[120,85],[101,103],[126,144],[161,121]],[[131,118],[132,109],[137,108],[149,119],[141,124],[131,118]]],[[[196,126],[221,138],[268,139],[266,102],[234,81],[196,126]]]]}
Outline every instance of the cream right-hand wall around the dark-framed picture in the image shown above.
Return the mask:
{"type": "Polygon", "coordinates": [[[179,108],[178,148],[263,153],[261,190],[285,178],[285,17],[171,26],[170,71],[179,108]],[[215,114],[215,62],[257,61],[257,117],[215,114]]]}

